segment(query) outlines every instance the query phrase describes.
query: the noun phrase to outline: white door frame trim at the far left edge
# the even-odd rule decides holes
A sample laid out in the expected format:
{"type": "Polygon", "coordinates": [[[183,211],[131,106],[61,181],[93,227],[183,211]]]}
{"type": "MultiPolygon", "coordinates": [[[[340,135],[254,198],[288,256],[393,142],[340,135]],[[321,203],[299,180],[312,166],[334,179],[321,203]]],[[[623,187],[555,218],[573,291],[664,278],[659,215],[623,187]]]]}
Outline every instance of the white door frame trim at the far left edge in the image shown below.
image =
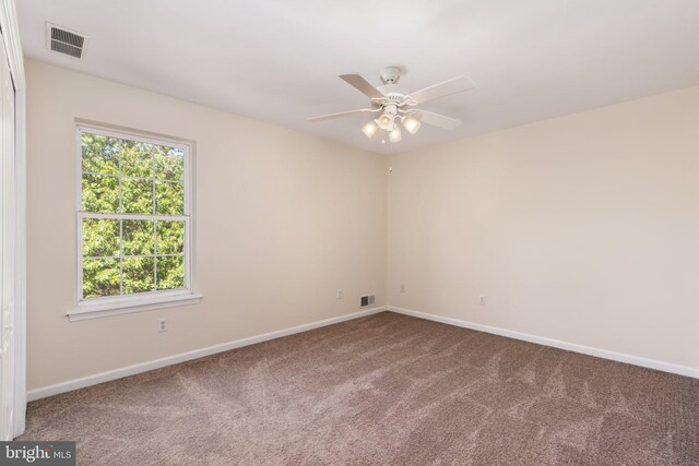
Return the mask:
{"type": "Polygon", "coordinates": [[[14,437],[26,418],[26,81],[14,0],[0,0],[0,28],[14,83],[14,437]]]}

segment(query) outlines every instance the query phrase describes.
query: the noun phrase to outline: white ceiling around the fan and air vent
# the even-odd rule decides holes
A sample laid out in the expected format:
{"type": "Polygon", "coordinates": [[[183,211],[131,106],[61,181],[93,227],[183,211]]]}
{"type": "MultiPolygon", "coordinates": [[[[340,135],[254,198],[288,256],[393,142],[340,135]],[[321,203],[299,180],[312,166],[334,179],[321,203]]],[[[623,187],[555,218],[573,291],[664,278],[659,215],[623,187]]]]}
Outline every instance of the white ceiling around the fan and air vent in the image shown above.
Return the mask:
{"type": "Polygon", "coordinates": [[[34,59],[400,153],[699,84],[698,0],[20,0],[34,59]],[[90,36],[84,60],[46,50],[45,22],[90,36]],[[463,120],[400,143],[359,131],[366,107],[337,74],[407,69],[412,91],[465,74],[476,88],[426,104],[463,120]]]}

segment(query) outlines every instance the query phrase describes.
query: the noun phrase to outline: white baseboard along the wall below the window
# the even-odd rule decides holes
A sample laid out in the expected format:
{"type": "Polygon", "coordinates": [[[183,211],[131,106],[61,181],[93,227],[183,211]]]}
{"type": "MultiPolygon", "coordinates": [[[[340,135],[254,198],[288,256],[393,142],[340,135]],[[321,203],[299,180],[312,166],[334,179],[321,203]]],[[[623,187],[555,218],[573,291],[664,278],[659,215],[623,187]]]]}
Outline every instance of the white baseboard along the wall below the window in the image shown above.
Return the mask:
{"type": "Polygon", "coordinates": [[[57,383],[55,385],[43,386],[40,389],[31,390],[27,392],[27,401],[33,402],[35,399],[46,398],[48,396],[58,395],[59,393],[71,392],[73,390],[83,389],[90,385],[96,385],[98,383],[109,382],[111,380],[121,379],[129,375],[134,375],[142,372],[147,372],[154,369],[164,368],[166,366],[173,366],[180,362],[190,361],[192,359],[203,358],[204,356],[215,355],[216,353],[228,351],[230,349],[240,348],[242,346],[254,345],[256,343],[266,342],[269,339],[281,338],[283,336],[293,335],[295,333],[306,332],[313,328],[319,328],[325,325],[332,325],[340,322],[350,321],[353,319],[364,318],[365,315],[376,314],[377,312],[386,311],[386,306],[367,309],[359,312],[353,312],[351,314],[340,315],[337,318],[324,319],[322,321],[311,322],[309,324],[297,325],[291,328],[284,328],[276,332],[264,333],[262,335],[256,335],[248,338],[236,339],[221,345],[210,346],[208,348],[194,349],[192,351],[180,353],[179,355],[168,356],[152,361],[141,362],[126,368],[119,368],[107,372],[96,373],[94,375],[83,377],[81,379],[69,380],[67,382],[57,383]]]}

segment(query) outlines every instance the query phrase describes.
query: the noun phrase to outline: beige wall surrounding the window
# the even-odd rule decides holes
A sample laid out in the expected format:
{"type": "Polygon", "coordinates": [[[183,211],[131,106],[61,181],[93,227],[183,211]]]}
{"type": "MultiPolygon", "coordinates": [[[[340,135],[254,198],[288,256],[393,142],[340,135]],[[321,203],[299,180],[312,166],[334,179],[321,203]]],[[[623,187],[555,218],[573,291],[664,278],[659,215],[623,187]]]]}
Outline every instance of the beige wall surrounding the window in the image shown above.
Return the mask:
{"type": "Polygon", "coordinates": [[[26,70],[28,390],[347,314],[363,294],[386,303],[383,156],[32,60],[26,70]],[[200,304],[68,321],[74,118],[197,142],[200,304]]]}

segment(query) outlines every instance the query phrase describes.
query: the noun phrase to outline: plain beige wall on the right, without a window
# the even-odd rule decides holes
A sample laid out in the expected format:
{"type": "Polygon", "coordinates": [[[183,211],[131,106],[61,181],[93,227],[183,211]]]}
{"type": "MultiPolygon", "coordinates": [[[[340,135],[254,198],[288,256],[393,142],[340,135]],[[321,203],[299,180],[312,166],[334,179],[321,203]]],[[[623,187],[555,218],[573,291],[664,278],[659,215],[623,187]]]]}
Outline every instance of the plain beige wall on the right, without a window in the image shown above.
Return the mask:
{"type": "Polygon", "coordinates": [[[699,368],[699,87],[389,165],[391,304],[699,368]]]}

